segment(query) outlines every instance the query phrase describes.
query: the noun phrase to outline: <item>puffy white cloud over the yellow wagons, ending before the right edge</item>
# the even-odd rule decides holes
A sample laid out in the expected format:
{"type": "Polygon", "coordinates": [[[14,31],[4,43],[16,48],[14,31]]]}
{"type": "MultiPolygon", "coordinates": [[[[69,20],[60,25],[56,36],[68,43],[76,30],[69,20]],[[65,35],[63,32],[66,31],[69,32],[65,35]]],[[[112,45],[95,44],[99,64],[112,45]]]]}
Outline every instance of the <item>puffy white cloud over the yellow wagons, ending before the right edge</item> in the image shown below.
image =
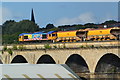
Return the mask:
{"type": "Polygon", "coordinates": [[[61,18],[56,21],[55,25],[85,24],[95,23],[95,16],[92,13],[83,13],[74,18],[61,18]]]}

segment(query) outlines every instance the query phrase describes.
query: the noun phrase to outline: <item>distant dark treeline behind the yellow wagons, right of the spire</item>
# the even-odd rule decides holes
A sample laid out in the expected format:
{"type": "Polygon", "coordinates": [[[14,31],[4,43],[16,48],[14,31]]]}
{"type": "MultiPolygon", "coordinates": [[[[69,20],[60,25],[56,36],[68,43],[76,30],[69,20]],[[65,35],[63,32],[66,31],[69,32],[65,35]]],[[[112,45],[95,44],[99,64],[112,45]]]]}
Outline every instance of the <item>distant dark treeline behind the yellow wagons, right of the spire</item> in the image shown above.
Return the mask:
{"type": "Polygon", "coordinates": [[[103,28],[104,26],[107,27],[114,27],[114,26],[119,26],[120,22],[114,21],[114,20],[109,20],[105,21],[104,23],[101,24],[94,24],[94,23],[86,23],[84,25],[82,24],[73,24],[73,25],[61,25],[55,27],[53,24],[47,24],[45,28],[41,28],[41,31],[69,31],[69,30],[78,30],[78,29],[86,29],[86,28],[103,28]]]}

